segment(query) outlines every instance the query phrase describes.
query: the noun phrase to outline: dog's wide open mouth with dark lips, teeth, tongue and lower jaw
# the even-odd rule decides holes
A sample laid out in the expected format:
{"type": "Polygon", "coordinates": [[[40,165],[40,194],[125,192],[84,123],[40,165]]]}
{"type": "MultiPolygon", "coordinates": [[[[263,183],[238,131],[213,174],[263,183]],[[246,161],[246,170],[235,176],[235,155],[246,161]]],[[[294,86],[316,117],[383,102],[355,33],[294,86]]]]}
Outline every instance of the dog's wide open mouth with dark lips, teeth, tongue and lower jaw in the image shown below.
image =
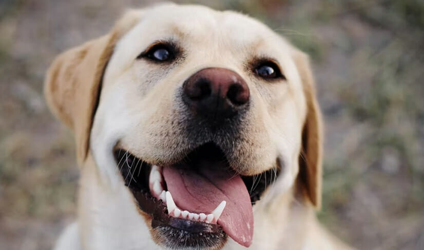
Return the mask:
{"type": "Polygon", "coordinates": [[[252,205],[279,166],[256,176],[237,174],[222,150],[206,143],[175,164],[152,165],[124,149],[118,168],[142,211],[168,246],[217,248],[227,235],[243,246],[253,238],[252,205]]]}

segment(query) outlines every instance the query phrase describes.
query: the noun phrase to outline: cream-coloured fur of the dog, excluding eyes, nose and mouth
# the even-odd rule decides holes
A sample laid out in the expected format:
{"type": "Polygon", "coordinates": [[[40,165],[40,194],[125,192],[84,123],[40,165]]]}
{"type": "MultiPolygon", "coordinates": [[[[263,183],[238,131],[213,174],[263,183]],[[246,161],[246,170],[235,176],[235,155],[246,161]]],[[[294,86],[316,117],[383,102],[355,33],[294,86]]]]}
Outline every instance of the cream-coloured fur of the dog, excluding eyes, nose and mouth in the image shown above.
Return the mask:
{"type": "MultiPolygon", "coordinates": [[[[78,218],[56,250],[163,249],[152,239],[150,219],[134,203],[112,151],[119,143],[147,162],[162,164],[188,153],[181,128],[171,125],[182,105],[175,93],[207,67],[240,74],[254,103],[235,158],[229,159],[233,169],[258,174],[276,159],[284,166],[253,207],[249,249],[350,249],[315,218],[322,126],[307,56],[245,15],[167,4],[128,11],[105,36],[58,56],[47,73],[46,98],[75,132],[81,165],[78,218]],[[158,66],[136,59],[163,39],[182,47],[181,63],[158,66]],[[246,69],[250,60],[264,56],[278,62],[285,82],[266,82],[246,69]]],[[[229,239],[222,249],[243,248],[229,239]]]]}

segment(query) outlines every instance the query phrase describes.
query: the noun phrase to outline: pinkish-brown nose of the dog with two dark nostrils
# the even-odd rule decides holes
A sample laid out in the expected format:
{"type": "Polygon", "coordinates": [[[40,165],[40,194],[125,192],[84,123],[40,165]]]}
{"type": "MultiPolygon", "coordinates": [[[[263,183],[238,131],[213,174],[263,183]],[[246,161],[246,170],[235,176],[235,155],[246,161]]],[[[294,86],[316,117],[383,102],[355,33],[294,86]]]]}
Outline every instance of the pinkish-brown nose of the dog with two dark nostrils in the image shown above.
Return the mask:
{"type": "Polygon", "coordinates": [[[196,116],[234,116],[245,110],[250,96],[243,78],[223,68],[198,71],[184,82],[183,89],[184,100],[196,116]]]}

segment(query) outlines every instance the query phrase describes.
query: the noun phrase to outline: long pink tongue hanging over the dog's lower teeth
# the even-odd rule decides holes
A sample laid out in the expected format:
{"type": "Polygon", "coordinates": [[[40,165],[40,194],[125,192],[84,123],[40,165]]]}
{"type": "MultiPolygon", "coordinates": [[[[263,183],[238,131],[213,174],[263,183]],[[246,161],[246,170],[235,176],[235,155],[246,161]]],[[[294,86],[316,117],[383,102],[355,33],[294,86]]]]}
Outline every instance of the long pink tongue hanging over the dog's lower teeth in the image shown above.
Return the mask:
{"type": "MultiPolygon", "coordinates": [[[[226,201],[218,224],[229,237],[243,246],[250,246],[253,238],[253,211],[246,185],[239,175],[225,168],[163,168],[168,191],[182,210],[209,214],[226,201]]],[[[228,167],[228,166],[226,166],[228,167]]]]}

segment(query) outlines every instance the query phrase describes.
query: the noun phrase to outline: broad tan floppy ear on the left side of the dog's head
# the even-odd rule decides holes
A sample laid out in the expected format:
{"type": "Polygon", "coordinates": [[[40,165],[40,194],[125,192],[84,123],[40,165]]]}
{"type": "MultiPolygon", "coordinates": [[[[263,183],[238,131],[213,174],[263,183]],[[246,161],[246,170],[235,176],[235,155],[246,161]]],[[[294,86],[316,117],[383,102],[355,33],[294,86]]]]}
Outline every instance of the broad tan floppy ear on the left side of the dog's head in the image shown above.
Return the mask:
{"type": "Polygon", "coordinates": [[[107,35],[65,51],[47,71],[44,85],[47,104],[74,132],[80,165],[88,154],[91,123],[113,47],[137,23],[141,13],[141,10],[127,11],[107,35]]]}

